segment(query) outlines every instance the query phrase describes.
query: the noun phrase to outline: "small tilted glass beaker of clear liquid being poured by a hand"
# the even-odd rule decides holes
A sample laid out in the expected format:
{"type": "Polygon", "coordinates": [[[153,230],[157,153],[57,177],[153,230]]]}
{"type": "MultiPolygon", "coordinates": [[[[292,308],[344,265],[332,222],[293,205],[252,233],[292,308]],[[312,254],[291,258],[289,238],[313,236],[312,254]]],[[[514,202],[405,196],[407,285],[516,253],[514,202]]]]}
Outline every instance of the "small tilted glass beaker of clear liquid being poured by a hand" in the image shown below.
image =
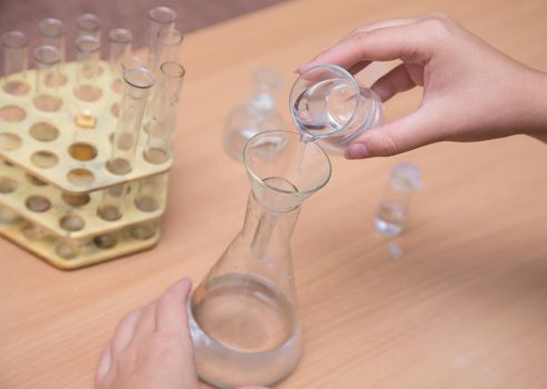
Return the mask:
{"type": "Polygon", "coordinates": [[[292,86],[289,106],[302,136],[334,152],[384,120],[379,97],[336,64],[302,72],[292,86]]]}

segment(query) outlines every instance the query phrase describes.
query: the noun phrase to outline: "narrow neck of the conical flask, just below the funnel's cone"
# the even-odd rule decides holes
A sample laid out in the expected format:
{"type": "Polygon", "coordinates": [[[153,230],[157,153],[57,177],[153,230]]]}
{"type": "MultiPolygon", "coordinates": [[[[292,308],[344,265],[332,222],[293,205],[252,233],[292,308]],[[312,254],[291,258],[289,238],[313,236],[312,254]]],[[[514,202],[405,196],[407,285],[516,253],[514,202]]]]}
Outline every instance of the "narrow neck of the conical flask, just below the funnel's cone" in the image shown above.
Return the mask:
{"type": "Polygon", "coordinates": [[[300,207],[286,212],[269,210],[251,191],[241,230],[241,238],[250,243],[251,255],[275,257],[280,250],[290,251],[290,237],[299,213],[300,207]]]}

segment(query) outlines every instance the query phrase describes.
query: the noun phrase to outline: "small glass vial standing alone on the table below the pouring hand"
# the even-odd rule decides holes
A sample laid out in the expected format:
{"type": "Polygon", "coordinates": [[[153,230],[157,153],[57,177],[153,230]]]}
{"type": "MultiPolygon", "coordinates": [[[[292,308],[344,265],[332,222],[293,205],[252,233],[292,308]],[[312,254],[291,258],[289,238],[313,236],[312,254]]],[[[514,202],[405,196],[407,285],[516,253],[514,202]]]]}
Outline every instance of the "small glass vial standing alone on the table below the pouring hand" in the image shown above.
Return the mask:
{"type": "Polygon", "coordinates": [[[405,229],[412,193],[422,187],[417,166],[399,162],[391,169],[389,183],[375,216],[375,228],[384,236],[396,236],[405,229]]]}

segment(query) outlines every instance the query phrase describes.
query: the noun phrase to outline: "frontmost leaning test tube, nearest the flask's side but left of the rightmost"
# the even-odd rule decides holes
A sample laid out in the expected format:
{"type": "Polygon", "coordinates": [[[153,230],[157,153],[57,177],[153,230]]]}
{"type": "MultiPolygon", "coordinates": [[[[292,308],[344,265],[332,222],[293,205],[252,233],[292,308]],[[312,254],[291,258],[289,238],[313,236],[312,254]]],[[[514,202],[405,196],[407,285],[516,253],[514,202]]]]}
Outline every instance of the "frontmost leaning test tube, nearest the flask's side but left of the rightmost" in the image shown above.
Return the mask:
{"type": "Polygon", "coordinates": [[[107,162],[107,169],[115,174],[126,174],[132,169],[148,94],[155,83],[153,76],[145,68],[125,70],[123,81],[112,152],[107,162]]]}

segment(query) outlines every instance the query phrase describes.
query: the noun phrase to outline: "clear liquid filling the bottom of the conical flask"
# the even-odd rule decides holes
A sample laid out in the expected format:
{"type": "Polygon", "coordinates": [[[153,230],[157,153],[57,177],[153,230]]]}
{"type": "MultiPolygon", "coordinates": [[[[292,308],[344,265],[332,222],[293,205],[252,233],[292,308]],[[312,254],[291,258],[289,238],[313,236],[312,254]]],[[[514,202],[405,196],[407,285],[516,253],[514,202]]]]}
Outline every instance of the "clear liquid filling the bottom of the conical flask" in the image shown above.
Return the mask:
{"type": "Polygon", "coordinates": [[[211,280],[203,296],[193,296],[189,323],[198,371],[220,388],[272,385],[291,372],[300,356],[294,305],[257,276],[211,280]]]}

